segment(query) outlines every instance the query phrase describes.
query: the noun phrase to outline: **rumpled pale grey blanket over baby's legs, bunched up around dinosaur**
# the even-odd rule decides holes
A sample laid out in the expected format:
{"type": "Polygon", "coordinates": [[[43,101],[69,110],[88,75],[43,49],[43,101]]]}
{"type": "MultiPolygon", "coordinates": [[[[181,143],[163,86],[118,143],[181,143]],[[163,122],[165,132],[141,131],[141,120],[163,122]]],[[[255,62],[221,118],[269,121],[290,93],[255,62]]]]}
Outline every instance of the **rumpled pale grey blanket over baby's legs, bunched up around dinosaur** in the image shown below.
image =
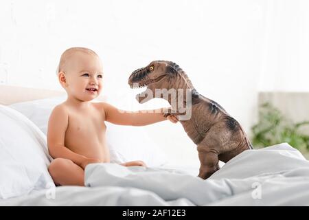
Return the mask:
{"type": "Polygon", "coordinates": [[[182,198],[197,206],[309,205],[309,162],[288,144],[278,144],[244,151],[207,180],[154,168],[90,164],[85,184],[139,188],[165,201],[182,198]]]}

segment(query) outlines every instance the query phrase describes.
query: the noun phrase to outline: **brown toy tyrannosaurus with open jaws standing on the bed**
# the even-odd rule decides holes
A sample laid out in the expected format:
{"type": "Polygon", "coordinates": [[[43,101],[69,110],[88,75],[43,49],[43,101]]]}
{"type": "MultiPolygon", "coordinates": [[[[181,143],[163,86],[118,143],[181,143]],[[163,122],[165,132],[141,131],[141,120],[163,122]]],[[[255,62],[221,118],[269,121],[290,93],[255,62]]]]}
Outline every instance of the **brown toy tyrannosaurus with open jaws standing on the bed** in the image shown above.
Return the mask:
{"type": "Polygon", "coordinates": [[[197,145],[201,162],[199,177],[207,179],[220,168],[219,160],[228,162],[242,151],[253,148],[240,124],[218,103],[198,94],[190,79],[176,63],[153,61],[148,66],[135,70],[128,83],[131,88],[147,86],[146,91],[137,95],[139,103],[152,98],[164,98],[170,102],[172,108],[165,113],[165,117],[176,115],[187,135],[197,145]],[[192,112],[190,118],[181,120],[180,116],[184,115],[181,111],[183,106],[175,107],[172,94],[164,96],[159,91],[174,91],[176,101],[186,106],[186,112],[192,112]],[[155,96],[152,96],[153,94],[155,96]]]}

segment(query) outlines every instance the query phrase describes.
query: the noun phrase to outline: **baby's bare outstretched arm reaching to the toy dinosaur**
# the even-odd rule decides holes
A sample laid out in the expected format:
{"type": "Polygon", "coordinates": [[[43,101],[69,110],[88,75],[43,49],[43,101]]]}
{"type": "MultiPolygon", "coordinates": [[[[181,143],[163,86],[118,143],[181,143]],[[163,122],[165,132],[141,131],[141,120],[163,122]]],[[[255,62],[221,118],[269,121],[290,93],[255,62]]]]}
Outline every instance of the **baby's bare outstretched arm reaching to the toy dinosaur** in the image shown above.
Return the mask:
{"type": "Polygon", "coordinates": [[[163,116],[165,108],[145,111],[122,111],[113,107],[111,104],[103,103],[105,120],[113,124],[144,126],[156,122],[162,122],[166,119],[176,123],[176,117],[169,115],[167,118],[163,116]]]}

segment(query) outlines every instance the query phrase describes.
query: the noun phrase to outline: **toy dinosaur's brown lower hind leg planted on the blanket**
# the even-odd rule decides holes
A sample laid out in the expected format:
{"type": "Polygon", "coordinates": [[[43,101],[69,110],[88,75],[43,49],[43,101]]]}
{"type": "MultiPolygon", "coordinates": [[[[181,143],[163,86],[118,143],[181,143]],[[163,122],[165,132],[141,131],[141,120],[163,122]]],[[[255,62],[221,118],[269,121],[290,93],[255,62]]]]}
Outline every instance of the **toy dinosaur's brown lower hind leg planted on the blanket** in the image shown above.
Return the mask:
{"type": "Polygon", "coordinates": [[[198,158],[201,162],[198,177],[202,179],[207,179],[220,168],[218,153],[216,152],[198,151],[198,158]]]}

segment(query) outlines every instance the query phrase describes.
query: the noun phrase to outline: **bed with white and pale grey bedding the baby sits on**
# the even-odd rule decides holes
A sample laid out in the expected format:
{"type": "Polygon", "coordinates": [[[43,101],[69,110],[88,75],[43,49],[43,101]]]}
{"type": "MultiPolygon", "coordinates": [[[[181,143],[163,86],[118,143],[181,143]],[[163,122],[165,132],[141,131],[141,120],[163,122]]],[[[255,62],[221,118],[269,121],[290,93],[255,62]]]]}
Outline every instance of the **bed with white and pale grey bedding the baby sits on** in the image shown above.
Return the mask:
{"type": "Polygon", "coordinates": [[[309,162],[286,143],[244,151],[203,180],[197,166],[167,164],[146,133],[134,143],[141,128],[112,124],[111,163],[89,164],[84,187],[56,187],[47,171],[46,131],[49,113],[63,100],[60,91],[0,86],[0,206],[309,205],[309,162]],[[118,165],[133,159],[149,166],[118,165]]]}

